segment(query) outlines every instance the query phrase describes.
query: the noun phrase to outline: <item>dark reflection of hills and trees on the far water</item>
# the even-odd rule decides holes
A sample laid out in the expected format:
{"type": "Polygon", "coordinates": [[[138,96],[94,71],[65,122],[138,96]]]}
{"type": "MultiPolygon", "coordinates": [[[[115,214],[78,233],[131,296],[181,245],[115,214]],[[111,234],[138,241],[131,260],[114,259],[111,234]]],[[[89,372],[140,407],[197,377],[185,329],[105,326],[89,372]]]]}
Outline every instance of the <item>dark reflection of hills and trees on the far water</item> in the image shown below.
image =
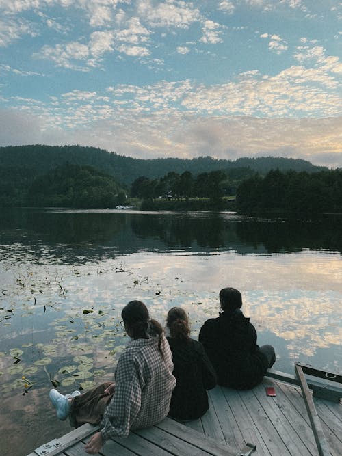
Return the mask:
{"type": "MultiPolygon", "coordinates": [[[[232,213],[2,211],[3,247],[21,245],[40,258],[64,262],[114,258],[140,251],[192,253],[233,250],[274,254],[342,252],[342,217],[262,219],[232,213]]],[[[6,251],[2,252],[6,256],[6,251]]]]}

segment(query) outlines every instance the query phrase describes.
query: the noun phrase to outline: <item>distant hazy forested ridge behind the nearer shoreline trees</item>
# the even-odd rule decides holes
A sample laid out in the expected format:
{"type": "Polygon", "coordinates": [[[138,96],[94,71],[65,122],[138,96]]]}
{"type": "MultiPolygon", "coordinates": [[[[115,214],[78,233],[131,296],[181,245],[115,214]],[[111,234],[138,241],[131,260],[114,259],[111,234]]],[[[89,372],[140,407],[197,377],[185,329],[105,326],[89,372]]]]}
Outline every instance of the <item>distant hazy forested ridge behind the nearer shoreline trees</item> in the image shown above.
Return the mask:
{"type": "Polygon", "coordinates": [[[134,159],[123,157],[106,150],[83,146],[44,146],[40,144],[29,146],[0,147],[0,169],[27,170],[32,176],[44,174],[64,163],[71,165],[90,165],[114,176],[124,185],[131,183],[140,176],[160,178],[170,171],[179,174],[189,171],[193,175],[215,170],[232,170],[250,168],[260,174],[269,170],[308,171],[314,172],[325,169],[317,167],[302,159],[285,157],[241,158],[235,161],[198,157],[194,159],[134,159]]]}

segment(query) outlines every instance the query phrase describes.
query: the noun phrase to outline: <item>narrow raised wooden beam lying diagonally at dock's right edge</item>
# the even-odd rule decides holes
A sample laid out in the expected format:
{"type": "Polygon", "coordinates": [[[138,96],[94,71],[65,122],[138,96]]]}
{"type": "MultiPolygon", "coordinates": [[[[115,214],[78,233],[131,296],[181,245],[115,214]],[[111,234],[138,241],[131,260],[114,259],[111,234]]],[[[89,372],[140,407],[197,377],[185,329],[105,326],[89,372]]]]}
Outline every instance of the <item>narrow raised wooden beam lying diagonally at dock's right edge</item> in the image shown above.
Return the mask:
{"type": "Polygon", "coordinates": [[[295,372],[300,381],[300,388],[302,390],[308,417],[310,418],[311,427],[313,428],[313,435],[315,435],[318,453],[321,456],[330,456],[330,448],[321,427],[321,422],[319,420],[319,416],[317,415],[315,404],[313,403],[313,397],[311,396],[311,392],[308,390],[308,384],[306,383],[306,378],[302,371],[302,366],[300,366],[298,363],[295,363],[295,372]]]}

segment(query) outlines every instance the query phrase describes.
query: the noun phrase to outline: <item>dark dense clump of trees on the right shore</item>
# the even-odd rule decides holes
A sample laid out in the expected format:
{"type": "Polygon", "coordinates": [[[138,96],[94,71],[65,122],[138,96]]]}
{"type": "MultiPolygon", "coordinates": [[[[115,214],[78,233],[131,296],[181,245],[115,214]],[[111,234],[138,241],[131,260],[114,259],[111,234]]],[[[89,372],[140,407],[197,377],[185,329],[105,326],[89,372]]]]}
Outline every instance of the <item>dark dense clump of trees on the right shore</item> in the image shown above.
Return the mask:
{"type": "Polygon", "coordinates": [[[342,170],[273,170],[265,177],[252,176],[237,189],[237,209],[242,213],[341,213],[342,170]]]}

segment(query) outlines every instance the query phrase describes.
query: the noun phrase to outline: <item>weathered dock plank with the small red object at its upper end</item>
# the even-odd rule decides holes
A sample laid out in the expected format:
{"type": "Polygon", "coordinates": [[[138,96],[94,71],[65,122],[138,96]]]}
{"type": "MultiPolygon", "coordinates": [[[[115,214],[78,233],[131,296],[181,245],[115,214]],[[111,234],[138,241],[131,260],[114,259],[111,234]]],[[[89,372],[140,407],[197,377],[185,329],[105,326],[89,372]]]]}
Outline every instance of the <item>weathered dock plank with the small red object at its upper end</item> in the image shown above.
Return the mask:
{"type": "MultiPolygon", "coordinates": [[[[279,388],[275,386],[276,392],[279,388]]],[[[268,397],[265,392],[265,386],[260,384],[253,388],[253,392],[257,397],[261,407],[267,414],[270,422],[275,427],[275,431],[280,436],[282,442],[284,442],[286,448],[289,450],[291,455],[309,456],[311,452],[308,451],[306,445],[298,437],[295,427],[293,427],[289,421],[285,418],[282,410],[278,407],[276,397],[268,397]]],[[[269,429],[271,431],[271,429],[269,429]]]]}

